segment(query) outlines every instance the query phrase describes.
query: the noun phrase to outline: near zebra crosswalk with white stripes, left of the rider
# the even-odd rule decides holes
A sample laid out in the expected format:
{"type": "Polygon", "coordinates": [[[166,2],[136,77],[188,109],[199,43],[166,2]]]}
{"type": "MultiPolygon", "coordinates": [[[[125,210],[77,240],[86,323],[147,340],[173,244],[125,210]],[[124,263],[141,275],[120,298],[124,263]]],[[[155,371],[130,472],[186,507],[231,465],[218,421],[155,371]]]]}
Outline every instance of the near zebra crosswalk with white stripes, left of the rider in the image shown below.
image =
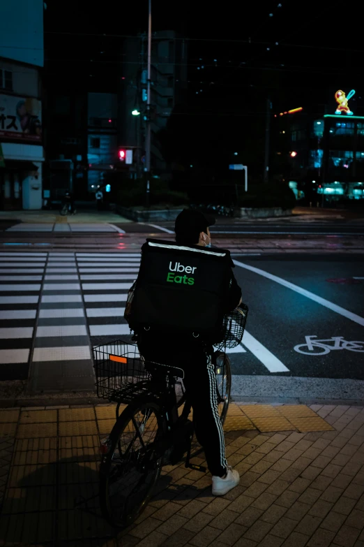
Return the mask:
{"type": "Polygon", "coordinates": [[[92,347],[130,337],[123,314],[139,264],[135,252],[1,252],[0,380],[92,389],[92,347]]]}

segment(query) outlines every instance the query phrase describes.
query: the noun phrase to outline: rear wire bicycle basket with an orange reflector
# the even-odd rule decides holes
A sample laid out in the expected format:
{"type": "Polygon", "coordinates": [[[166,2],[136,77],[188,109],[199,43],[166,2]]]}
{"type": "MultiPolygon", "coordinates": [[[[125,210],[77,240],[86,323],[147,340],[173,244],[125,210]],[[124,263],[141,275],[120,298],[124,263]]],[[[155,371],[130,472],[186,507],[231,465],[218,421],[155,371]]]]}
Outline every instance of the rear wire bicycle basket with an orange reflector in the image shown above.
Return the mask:
{"type": "Polygon", "coordinates": [[[145,393],[151,377],[137,346],[116,340],[93,348],[98,397],[128,403],[145,393]]]}

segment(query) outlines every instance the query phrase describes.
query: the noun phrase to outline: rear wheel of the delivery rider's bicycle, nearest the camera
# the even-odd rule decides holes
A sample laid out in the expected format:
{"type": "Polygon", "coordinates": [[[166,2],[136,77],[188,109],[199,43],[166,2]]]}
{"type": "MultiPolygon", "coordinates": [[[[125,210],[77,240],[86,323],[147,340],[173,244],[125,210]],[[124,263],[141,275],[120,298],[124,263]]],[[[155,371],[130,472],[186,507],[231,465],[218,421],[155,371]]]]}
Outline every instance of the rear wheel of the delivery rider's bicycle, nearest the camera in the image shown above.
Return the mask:
{"type": "Polygon", "coordinates": [[[165,418],[155,402],[130,404],[116,421],[100,466],[100,507],[107,522],[126,527],[144,511],[162,467],[156,442],[165,418]]]}

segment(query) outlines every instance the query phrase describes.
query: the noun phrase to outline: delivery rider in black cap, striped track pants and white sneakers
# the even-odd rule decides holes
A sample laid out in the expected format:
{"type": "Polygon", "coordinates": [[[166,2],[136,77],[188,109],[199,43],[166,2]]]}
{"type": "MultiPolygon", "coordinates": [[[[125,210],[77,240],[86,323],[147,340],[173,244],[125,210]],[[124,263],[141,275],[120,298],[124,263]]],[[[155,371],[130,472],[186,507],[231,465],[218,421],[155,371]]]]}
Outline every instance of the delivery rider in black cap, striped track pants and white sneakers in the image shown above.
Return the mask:
{"type": "MultiPolygon", "coordinates": [[[[175,223],[177,245],[192,249],[195,245],[211,247],[208,226],[213,224],[215,219],[207,218],[202,212],[183,210],[175,223]]],[[[233,272],[228,295],[226,313],[241,303],[241,289],[233,272]]],[[[156,330],[142,330],[137,335],[137,342],[146,360],[170,363],[184,371],[183,384],[192,404],[196,437],[204,448],[208,470],[212,475],[212,493],[226,494],[238,485],[240,477],[236,469],[229,467],[225,458],[225,439],[218,414],[217,384],[211,360],[213,346],[192,336],[186,340],[179,333],[166,337],[162,330],[159,334],[156,330]]]]}

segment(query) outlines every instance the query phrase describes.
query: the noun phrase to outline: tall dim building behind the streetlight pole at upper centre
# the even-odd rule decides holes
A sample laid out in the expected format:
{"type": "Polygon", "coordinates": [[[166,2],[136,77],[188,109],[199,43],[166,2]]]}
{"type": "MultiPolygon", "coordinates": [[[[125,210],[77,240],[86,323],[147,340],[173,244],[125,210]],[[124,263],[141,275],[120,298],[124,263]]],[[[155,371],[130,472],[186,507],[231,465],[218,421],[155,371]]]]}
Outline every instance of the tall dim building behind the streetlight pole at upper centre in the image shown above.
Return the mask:
{"type": "MultiPolygon", "coordinates": [[[[123,46],[126,63],[119,88],[119,146],[133,149],[130,173],[144,170],[147,101],[147,36],[129,38],[123,46]],[[140,112],[132,115],[132,112],[140,112]]],[[[151,48],[151,171],[167,176],[159,133],[167,126],[187,88],[187,46],[174,31],[154,32],[151,48]]]]}

